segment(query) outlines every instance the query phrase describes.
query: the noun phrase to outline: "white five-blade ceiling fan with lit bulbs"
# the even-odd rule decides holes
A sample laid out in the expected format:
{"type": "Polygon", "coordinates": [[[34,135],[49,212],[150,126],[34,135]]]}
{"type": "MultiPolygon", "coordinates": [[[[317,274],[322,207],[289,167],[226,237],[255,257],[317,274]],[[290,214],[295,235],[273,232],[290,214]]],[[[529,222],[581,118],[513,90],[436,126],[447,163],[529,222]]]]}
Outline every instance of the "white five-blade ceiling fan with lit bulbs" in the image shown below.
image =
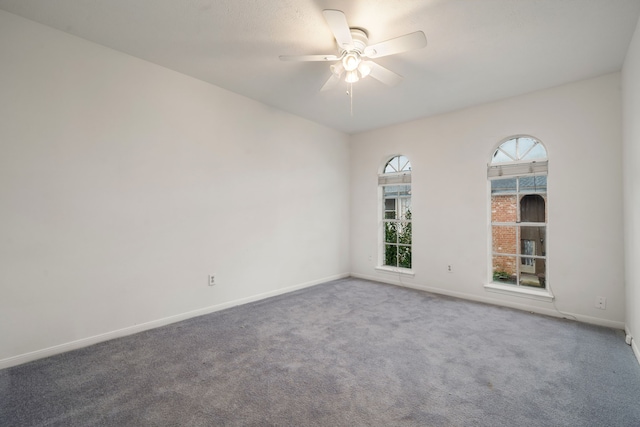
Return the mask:
{"type": "Polygon", "coordinates": [[[362,28],[350,28],[342,11],[327,9],[322,11],[322,14],[336,39],[338,54],[280,56],[282,61],[334,62],[329,67],[331,77],[320,90],[331,89],[343,78],[345,82],[353,84],[367,76],[371,76],[389,86],[396,85],[400,83],[402,76],[376,64],[370,59],[420,49],[427,45],[427,38],[422,31],[369,45],[367,32],[362,28]]]}

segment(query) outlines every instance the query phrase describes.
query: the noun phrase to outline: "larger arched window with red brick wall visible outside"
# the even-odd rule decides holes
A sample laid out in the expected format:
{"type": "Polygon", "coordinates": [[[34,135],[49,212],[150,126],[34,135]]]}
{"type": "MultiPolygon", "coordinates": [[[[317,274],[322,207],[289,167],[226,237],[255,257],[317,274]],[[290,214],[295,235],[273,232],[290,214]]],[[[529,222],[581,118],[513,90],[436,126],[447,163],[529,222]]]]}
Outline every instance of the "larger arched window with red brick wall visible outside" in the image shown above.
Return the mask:
{"type": "Polygon", "coordinates": [[[530,136],[502,142],[487,167],[492,282],[547,287],[547,150],[530,136]]]}

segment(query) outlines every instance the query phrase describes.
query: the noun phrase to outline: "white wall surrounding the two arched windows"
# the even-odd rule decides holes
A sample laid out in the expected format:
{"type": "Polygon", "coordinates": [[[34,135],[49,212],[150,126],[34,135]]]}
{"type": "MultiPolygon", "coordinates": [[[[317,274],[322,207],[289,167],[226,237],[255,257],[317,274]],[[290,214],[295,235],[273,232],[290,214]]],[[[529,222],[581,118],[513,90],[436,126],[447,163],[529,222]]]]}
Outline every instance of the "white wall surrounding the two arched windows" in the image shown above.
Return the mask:
{"type": "Polygon", "coordinates": [[[445,294],[582,321],[624,325],[620,74],[362,133],[351,145],[351,271],[445,294]],[[496,145],[529,134],[549,154],[548,283],[553,303],[489,293],[486,165],[496,145]],[[374,269],[376,174],[412,164],[415,277],[374,269]],[[370,260],[371,258],[371,260],[370,260]],[[447,265],[453,272],[447,272],[447,265]],[[597,296],[606,310],[595,308],[597,296]]]}

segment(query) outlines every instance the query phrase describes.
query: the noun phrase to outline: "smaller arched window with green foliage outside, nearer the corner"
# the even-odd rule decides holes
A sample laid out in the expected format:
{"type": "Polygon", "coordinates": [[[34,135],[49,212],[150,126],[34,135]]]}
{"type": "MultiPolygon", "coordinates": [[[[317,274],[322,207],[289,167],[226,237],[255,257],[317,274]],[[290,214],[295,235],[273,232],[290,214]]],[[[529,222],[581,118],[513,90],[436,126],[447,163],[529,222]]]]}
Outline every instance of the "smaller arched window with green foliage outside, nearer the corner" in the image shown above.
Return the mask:
{"type": "Polygon", "coordinates": [[[411,163],[395,156],[378,176],[382,194],[382,265],[411,268],[411,163]]]}

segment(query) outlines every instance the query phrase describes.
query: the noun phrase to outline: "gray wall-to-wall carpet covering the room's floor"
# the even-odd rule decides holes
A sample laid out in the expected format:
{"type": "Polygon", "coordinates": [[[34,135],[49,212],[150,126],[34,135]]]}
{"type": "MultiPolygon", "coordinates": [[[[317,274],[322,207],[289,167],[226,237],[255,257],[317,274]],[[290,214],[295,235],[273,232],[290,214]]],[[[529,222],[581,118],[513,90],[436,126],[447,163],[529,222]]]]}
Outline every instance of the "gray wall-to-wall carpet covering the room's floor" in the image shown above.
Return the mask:
{"type": "Polygon", "coordinates": [[[344,279],[0,371],[2,426],[639,426],[622,331],[344,279]]]}

